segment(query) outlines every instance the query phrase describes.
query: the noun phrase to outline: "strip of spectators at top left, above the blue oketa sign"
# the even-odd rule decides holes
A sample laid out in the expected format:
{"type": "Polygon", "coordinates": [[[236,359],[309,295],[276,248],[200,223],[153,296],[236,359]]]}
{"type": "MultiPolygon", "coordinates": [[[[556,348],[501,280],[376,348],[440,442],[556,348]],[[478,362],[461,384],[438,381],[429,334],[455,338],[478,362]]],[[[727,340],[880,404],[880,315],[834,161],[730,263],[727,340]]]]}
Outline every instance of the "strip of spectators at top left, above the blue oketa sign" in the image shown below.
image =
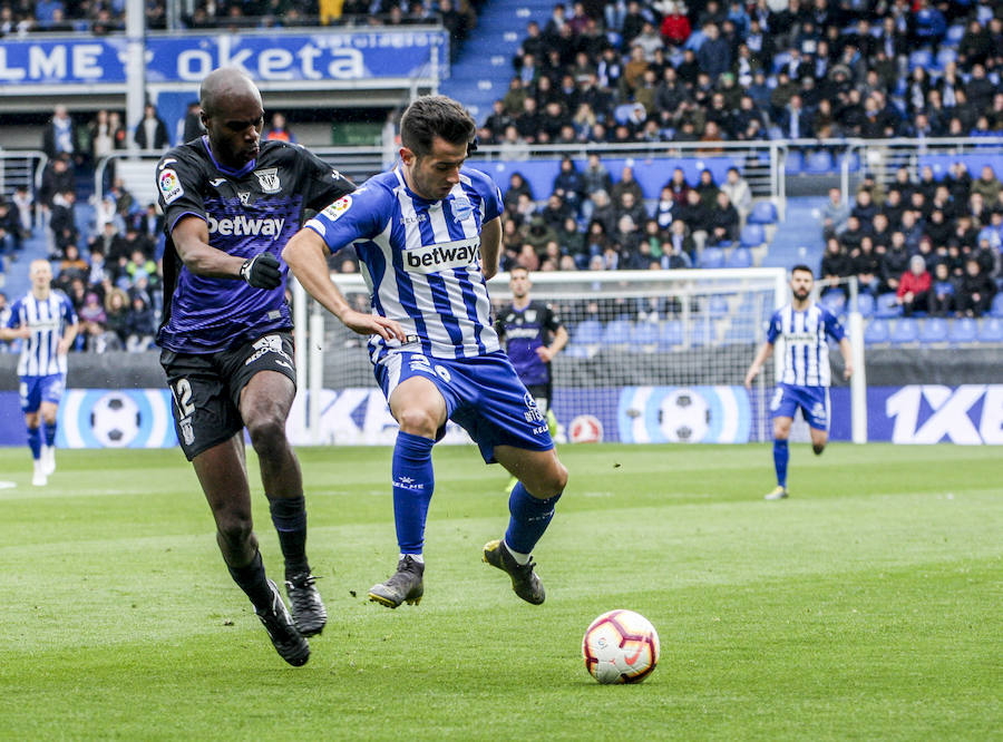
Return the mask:
{"type": "MultiPolygon", "coordinates": [[[[407,26],[441,21],[454,42],[477,22],[484,0],[198,0],[171,30],[298,28],[330,25],[407,26]]],[[[0,36],[125,31],[125,2],[104,0],[8,0],[0,4],[0,36]]],[[[146,0],[146,28],[168,29],[165,0],[146,0]]]]}

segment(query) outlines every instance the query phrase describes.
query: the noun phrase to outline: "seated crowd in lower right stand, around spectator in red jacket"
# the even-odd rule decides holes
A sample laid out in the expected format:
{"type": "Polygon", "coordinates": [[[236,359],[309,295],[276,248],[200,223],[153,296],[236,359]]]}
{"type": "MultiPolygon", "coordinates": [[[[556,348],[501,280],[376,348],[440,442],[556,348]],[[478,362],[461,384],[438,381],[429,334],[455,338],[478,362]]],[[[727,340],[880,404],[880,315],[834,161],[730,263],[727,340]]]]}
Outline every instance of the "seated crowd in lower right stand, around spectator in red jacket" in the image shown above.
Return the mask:
{"type": "Polygon", "coordinates": [[[1003,279],[1003,184],[989,165],[973,178],[955,163],[941,180],[903,167],[887,188],[866,178],[853,204],[832,188],[822,219],[822,286],[845,292],[855,275],[905,316],[982,316],[1003,279]]]}

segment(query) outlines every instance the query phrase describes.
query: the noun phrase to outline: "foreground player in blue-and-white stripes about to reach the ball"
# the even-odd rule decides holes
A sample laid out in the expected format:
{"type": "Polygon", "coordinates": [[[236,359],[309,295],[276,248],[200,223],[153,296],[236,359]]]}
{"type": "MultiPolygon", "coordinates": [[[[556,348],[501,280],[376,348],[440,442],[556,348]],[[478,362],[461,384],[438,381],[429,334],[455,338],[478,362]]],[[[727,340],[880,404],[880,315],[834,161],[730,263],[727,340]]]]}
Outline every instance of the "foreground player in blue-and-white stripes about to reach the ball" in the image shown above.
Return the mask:
{"type": "Polygon", "coordinates": [[[397,572],[369,597],[391,608],[423,592],[425,521],[435,486],[431,449],[447,419],[462,426],[488,463],[518,477],[503,539],[483,558],[508,573],[524,601],[544,588],[530,553],[567,482],[546,418],[500,350],[486,279],[498,269],[501,194],[462,167],[475,124],[455,100],[425,96],[401,117],[400,164],[370,178],[306,223],[282,255],[300,283],[356,332],[370,333],[376,377],[400,423],[392,490],[397,572]],[[353,244],[372,292],[353,311],[331,283],[325,254],[353,244]]]}

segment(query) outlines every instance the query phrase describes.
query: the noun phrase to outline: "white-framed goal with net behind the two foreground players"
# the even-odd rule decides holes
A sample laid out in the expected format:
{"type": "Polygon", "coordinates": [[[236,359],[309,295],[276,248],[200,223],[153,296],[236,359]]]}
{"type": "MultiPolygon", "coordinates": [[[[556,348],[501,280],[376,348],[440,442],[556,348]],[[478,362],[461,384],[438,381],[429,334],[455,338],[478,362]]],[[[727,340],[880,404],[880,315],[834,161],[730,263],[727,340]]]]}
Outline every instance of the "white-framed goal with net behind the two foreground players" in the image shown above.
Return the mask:
{"type": "MultiPolygon", "coordinates": [[[[775,367],[752,392],[746,370],[772,311],[787,301],[782,269],[534,273],[530,295],[548,302],[569,334],[553,361],[558,441],[625,443],[768,440],[775,367]]],[[[369,311],[361,275],[333,274],[347,299],[369,311]]],[[[489,283],[496,314],[512,301],[508,275],[489,283]]],[[[302,290],[298,287],[298,296],[302,290]]],[[[397,426],[377,388],[366,338],[302,301],[310,328],[309,403],[302,442],[390,445],[397,426]]],[[[298,343],[298,350],[304,343],[298,343]]],[[[305,349],[303,351],[305,353],[305,349]]],[[[301,389],[305,385],[301,385],[301,389]]],[[[302,398],[304,396],[299,396],[302,398]]],[[[446,442],[468,441],[450,423],[446,442]]]]}

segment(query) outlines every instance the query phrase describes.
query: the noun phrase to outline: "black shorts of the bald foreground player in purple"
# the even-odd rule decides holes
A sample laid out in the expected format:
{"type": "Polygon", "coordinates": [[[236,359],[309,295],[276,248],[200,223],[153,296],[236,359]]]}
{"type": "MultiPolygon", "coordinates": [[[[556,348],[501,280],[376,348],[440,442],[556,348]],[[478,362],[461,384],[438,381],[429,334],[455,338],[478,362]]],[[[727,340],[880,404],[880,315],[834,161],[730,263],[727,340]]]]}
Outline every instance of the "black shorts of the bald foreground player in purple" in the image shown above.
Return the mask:
{"type": "Polygon", "coordinates": [[[277,371],[296,383],[292,333],[272,332],[216,353],[160,351],[174,397],[177,440],[188,461],[230,440],[243,427],[241,390],[260,371],[277,371]]]}

